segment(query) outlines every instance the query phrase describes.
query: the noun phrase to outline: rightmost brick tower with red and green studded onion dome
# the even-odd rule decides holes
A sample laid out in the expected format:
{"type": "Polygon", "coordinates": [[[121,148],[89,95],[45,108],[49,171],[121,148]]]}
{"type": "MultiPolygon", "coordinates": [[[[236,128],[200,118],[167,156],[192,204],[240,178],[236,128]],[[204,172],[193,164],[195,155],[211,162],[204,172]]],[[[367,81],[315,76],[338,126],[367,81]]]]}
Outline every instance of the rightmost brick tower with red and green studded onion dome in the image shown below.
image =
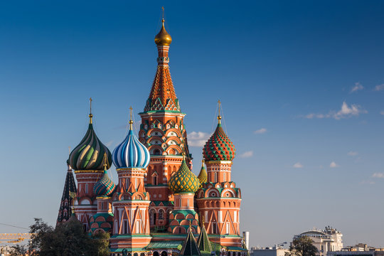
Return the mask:
{"type": "Polygon", "coordinates": [[[241,191],[231,180],[235,147],[221,126],[220,105],[218,126],[203,147],[203,157],[208,181],[197,192],[197,202],[200,216],[205,220],[204,228],[212,242],[241,247],[241,191]]]}

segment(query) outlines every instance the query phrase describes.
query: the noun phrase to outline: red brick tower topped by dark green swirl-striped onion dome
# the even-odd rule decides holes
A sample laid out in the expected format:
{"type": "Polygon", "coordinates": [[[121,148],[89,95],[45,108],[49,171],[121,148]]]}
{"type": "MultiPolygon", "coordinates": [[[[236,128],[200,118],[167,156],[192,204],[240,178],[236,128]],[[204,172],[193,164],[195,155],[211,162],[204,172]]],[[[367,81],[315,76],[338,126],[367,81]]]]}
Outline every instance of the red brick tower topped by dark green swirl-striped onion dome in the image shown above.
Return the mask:
{"type": "MultiPolygon", "coordinates": [[[[90,99],[92,103],[92,99],[90,99]]],[[[97,213],[94,186],[104,174],[103,156],[107,154],[107,169],[110,169],[112,154],[97,138],[92,124],[92,109],[87,133],[80,144],[70,152],[69,164],[75,170],[78,191],[75,198],[75,214],[85,231],[90,229],[90,218],[97,213]]]]}

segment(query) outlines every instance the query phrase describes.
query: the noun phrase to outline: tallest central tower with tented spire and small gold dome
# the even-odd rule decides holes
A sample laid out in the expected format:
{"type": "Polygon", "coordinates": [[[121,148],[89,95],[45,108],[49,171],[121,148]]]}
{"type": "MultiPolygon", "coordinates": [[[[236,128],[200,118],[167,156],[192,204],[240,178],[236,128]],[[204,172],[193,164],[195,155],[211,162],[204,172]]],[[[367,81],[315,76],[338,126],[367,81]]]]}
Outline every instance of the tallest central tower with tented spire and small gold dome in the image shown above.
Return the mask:
{"type": "Polygon", "coordinates": [[[183,123],[186,114],[181,112],[169,72],[168,53],[172,38],[164,27],[164,18],[154,41],[159,57],[149,98],[144,112],[139,113],[142,117],[139,140],[151,154],[148,176],[144,180],[152,201],[149,206],[150,225],[156,230],[166,230],[169,225],[168,215],[174,205],[167,183],[171,175],[180,168],[183,152],[186,153],[188,164],[191,162],[191,155],[183,123]]]}

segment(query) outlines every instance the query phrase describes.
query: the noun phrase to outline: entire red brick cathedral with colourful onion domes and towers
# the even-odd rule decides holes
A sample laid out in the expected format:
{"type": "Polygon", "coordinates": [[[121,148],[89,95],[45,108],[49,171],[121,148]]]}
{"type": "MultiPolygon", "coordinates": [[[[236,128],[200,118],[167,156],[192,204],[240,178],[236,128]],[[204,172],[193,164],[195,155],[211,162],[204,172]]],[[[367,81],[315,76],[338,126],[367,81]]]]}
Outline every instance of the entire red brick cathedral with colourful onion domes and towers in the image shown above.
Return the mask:
{"type": "Polygon", "coordinates": [[[221,126],[220,105],[218,126],[203,146],[196,176],[183,122],[186,114],[169,72],[172,38],[164,18],[154,41],[158,64],[144,112],[139,113],[138,137],[131,110],[127,137],[111,153],[95,134],[90,113],[85,137],[67,161],[58,225],[75,214],[85,231],[110,233],[112,256],[245,256],[241,191],[231,180],[235,147],[221,126]],[[117,184],[107,174],[112,163],[117,184]]]}

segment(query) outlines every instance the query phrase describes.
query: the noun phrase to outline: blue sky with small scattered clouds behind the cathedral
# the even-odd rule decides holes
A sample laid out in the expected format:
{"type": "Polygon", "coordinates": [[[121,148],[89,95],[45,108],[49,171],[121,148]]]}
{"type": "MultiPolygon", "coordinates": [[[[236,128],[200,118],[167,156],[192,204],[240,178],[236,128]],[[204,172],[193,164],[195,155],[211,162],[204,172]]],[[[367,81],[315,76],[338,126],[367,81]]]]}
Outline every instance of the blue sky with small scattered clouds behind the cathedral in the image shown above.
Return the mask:
{"type": "Polygon", "coordinates": [[[1,223],[55,223],[89,97],[102,142],[124,139],[163,5],[193,171],[220,99],[251,245],[332,225],[384,246],[383,1],[2,1],[1,223]]]}

